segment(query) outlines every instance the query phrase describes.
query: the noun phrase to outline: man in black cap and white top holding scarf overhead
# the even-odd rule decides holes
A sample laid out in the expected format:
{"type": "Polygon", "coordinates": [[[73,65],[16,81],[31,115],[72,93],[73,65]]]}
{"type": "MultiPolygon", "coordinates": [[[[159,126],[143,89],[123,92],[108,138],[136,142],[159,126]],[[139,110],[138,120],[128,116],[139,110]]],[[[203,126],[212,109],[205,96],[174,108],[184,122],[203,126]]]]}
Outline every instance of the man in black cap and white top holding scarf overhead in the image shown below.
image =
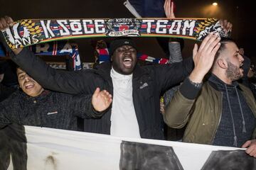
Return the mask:
{"type": "MultiPolygon", "coordinates": [[[[0,29],[11,23],[11,18],[2,18],[0,29]]],[[[225,23],[225,26],[230,25],[225,23]]],[[[215,40],[217,36],[211,38],[215,40]]],[[[214,40],[208,45],[215,47],[214,40]]],[[[10,51],[6,42],[4,45],[10,51]]],[[[204,50],[201,51],[198,55],[206,55],[204,50]]],[[[112,108],[100,119],[85,119],[84,130],[124,137],[164,140],[164,123],[159,112],[161,93],[183,81],[193,69],[191,59],[175,64],[140,67],[137,64],[137,49],[129,39],[112,41],[112,62],[78,72],[51,69],[27,48],[12,53],[12,60],[48,89],[69,94],[92,94],[97,87],[110,91],[113,94],[112,108]]]]}

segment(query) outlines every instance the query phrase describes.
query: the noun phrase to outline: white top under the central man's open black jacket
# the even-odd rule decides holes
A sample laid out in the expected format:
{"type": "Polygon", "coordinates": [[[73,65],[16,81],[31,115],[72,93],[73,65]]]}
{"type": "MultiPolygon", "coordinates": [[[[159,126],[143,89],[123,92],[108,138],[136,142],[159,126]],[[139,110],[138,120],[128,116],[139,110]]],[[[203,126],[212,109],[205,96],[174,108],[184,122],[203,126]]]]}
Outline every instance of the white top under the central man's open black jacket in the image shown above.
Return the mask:
{"type": "Polygon", "coordinates": [[[112,68],[110,77],[113,82],[110,135],[140,138],[139,124],[132,98],[132,74],[119,74],[112,68]]]}

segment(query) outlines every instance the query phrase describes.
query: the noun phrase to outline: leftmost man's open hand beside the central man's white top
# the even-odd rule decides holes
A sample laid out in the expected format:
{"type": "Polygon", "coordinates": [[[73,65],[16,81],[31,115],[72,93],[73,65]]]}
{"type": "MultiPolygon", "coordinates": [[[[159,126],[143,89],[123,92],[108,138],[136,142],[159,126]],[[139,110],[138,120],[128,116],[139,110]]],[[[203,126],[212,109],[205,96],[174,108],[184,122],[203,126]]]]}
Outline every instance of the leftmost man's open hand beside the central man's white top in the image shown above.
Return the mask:
{"type": "Polygon", "coordinates": [[[100,91],[97,87],[94,94],[92,95],[92,106],[95,111],[105,111],[112,103],[112,95],[106,90],[100,91]]]}

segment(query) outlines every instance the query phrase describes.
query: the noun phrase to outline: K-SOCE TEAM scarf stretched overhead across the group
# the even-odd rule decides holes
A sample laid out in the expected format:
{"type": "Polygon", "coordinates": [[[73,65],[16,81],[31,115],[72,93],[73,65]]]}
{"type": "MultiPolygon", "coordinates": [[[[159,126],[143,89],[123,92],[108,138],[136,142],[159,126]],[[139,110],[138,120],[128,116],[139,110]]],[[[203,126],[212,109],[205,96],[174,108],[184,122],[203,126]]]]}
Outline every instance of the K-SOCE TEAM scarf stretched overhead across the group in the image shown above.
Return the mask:
{"type": "Polygon", "coordinates": [[[216,18],[23,19],[2,30],[11,47],[92,37],[174,37],[203,40],[209,33],[228,36],[216,18]]]}

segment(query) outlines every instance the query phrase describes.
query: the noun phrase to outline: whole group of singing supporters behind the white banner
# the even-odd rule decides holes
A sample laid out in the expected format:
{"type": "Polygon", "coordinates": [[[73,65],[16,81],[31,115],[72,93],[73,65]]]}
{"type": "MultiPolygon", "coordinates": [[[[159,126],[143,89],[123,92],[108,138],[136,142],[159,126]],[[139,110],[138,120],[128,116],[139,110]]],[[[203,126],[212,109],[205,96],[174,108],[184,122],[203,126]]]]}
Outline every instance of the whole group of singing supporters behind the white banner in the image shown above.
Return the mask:
{"type": "MultiPolygon", "coordinates": [[[[167,18],[175,18],[173,6],[166,0],[167,18]]],[[[11,23],[10,17],[1,18],[0,29],[11,23]]],[[[223,21],[222,27],[230,31],[232,24],[223,21]]],[[[76,72],[50,68],[28,48],[11,50],[2,37],[1,42],[13,61],[0,62],[2,129],[18,123],[175,139],[247,147],[247,154],[256,157],[255,64],[230,38],[210,33],[195,44],[192,57],[182,56],[182,40],[169,38],[169,64],[144,66],[137,61],[134,41],[118,38],[109,45],[109,62],[76,72]],[[181,128],[180,137],[166,137],[181,128]]],[[[106,47],[102,40],[97,43],[95,62],[97,49],[106,47]]]]}

